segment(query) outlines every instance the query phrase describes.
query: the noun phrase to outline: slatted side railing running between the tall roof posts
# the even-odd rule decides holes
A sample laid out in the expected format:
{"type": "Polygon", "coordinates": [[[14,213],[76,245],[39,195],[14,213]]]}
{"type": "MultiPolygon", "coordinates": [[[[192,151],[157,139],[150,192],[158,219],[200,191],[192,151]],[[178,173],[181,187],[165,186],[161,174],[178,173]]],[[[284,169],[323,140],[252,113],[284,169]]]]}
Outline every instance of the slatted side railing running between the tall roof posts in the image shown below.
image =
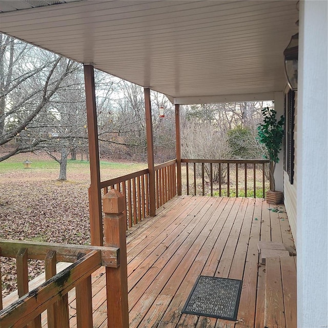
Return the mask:
{"type": "Polygon", "coordinates": [[[158,209],[176,195],[175,166],[176,159],[173,159],[154,167],[156,195],[149,193],[148,169],[100,182],[104,194],[116,189],[125,196],[127,229],[149,215],[151,201],[155,201],[158,209]]]}

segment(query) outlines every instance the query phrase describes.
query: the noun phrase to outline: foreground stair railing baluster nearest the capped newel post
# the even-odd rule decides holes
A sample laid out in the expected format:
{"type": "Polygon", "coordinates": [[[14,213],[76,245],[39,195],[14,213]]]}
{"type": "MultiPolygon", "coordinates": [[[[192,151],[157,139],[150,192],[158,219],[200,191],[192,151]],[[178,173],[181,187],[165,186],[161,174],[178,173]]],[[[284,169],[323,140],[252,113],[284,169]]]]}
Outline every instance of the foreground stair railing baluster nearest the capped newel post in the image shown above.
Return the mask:
{"type": "MultiPolygon", "coordinates": [[[[77,254],[76,260],[85,256],[85,253],[77,254]]],[[[68,295],[68,294],[66,294],[68,295]]],[[[92,286],[91,275],[81,281],[75,287],[76,295],[76,326],[77,328],[92,328],[92,286]]]]}

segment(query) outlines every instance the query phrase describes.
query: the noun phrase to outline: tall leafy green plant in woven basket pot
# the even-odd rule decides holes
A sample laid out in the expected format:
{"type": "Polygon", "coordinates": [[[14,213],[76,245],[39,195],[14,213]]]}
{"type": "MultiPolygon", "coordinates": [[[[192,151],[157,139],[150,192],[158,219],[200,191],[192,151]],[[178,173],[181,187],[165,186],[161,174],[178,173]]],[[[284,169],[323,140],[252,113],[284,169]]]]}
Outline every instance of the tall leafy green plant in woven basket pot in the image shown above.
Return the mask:
{"type": "Polygon", "coordinates": [[[281,191],[276,191],[274,172],[276,164],[279,162],[279,151],[281,150],[282,138],[283,138],[283,125],[284,117],[280,116],[277,120],[277,112],[269,107],[264,107],[261,110],[263,115],[263,122],[258,125],[258,140],[260,144],[263,144],[267,148],[268,158],[270,160],[270,181],[272,190],[267,192],[267,201],[274,204],[279,204],[283,200],[283,194],[281,191]]]}

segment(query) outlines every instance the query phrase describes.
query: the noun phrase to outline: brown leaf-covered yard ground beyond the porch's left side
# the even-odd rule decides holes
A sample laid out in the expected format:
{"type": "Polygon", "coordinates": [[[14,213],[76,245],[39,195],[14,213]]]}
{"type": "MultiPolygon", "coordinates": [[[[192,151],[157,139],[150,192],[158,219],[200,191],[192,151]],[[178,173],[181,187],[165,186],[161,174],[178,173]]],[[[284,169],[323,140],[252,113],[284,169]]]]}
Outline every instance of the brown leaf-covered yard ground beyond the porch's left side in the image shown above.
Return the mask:
{"type": "MultiPolygon", "coordinates": [[[[20,155],[13,161],[24,161],[20,155]]],[[[39,160],[40,157],[30,156],[39,160]]],[[[138,171],[144,164],[124,169],[105,168],[103,179],[138,171]],[[140,167],[140,168],[139,168],[140,167]]],[[[59,169],[1,171],[0,238],[58,243],[90,244],[88,187],[89,166],[68,168],[68,181],[56,181],[59,169]]],[[[43,261],[29,260],[29,278],[44,270],[43,261]]],[[[1,258],[3,296],[16,289],[15,260],[1,258]]]]}

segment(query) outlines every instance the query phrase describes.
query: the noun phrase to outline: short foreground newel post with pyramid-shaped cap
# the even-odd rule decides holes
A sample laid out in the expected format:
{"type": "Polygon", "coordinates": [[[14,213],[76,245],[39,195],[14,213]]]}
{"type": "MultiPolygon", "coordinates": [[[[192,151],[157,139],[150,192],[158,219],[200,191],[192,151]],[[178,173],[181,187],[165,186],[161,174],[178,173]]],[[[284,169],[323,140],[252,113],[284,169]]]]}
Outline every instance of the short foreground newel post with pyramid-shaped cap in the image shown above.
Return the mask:
{"type": "Polygon", "coordinates": [[[106,268],[108,327],[129,327],[125,197],[117,190],[103,198],[105,246],[119,248],[118,268],[106,268]]]}

